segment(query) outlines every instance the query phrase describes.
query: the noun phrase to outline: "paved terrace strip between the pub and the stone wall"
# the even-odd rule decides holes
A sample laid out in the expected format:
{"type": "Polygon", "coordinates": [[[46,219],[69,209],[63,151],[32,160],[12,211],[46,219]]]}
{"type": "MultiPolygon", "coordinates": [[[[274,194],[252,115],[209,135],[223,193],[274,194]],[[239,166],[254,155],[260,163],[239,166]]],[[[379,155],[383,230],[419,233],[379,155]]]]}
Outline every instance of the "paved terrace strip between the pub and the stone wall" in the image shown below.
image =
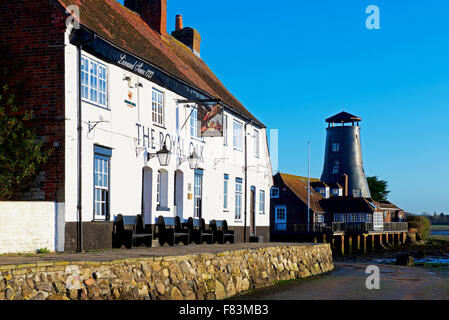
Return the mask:
{"type": "Polygon", "coordinates": [[[189,254],[218,253],[232,250],[243,250],[251,248],[265,248],[278,246],[304,246],[313,244],[300,243],[237,243],[237,244],[190,244],[188,246],[177,245],[174,247],[152,247],[133,249],[114,249],[84,253],[49,253],[49,254],[2,254],[0,265],[30,264],[37,262],[56,261],[112,261],[128,258],[180,256],[189,254]]]}

